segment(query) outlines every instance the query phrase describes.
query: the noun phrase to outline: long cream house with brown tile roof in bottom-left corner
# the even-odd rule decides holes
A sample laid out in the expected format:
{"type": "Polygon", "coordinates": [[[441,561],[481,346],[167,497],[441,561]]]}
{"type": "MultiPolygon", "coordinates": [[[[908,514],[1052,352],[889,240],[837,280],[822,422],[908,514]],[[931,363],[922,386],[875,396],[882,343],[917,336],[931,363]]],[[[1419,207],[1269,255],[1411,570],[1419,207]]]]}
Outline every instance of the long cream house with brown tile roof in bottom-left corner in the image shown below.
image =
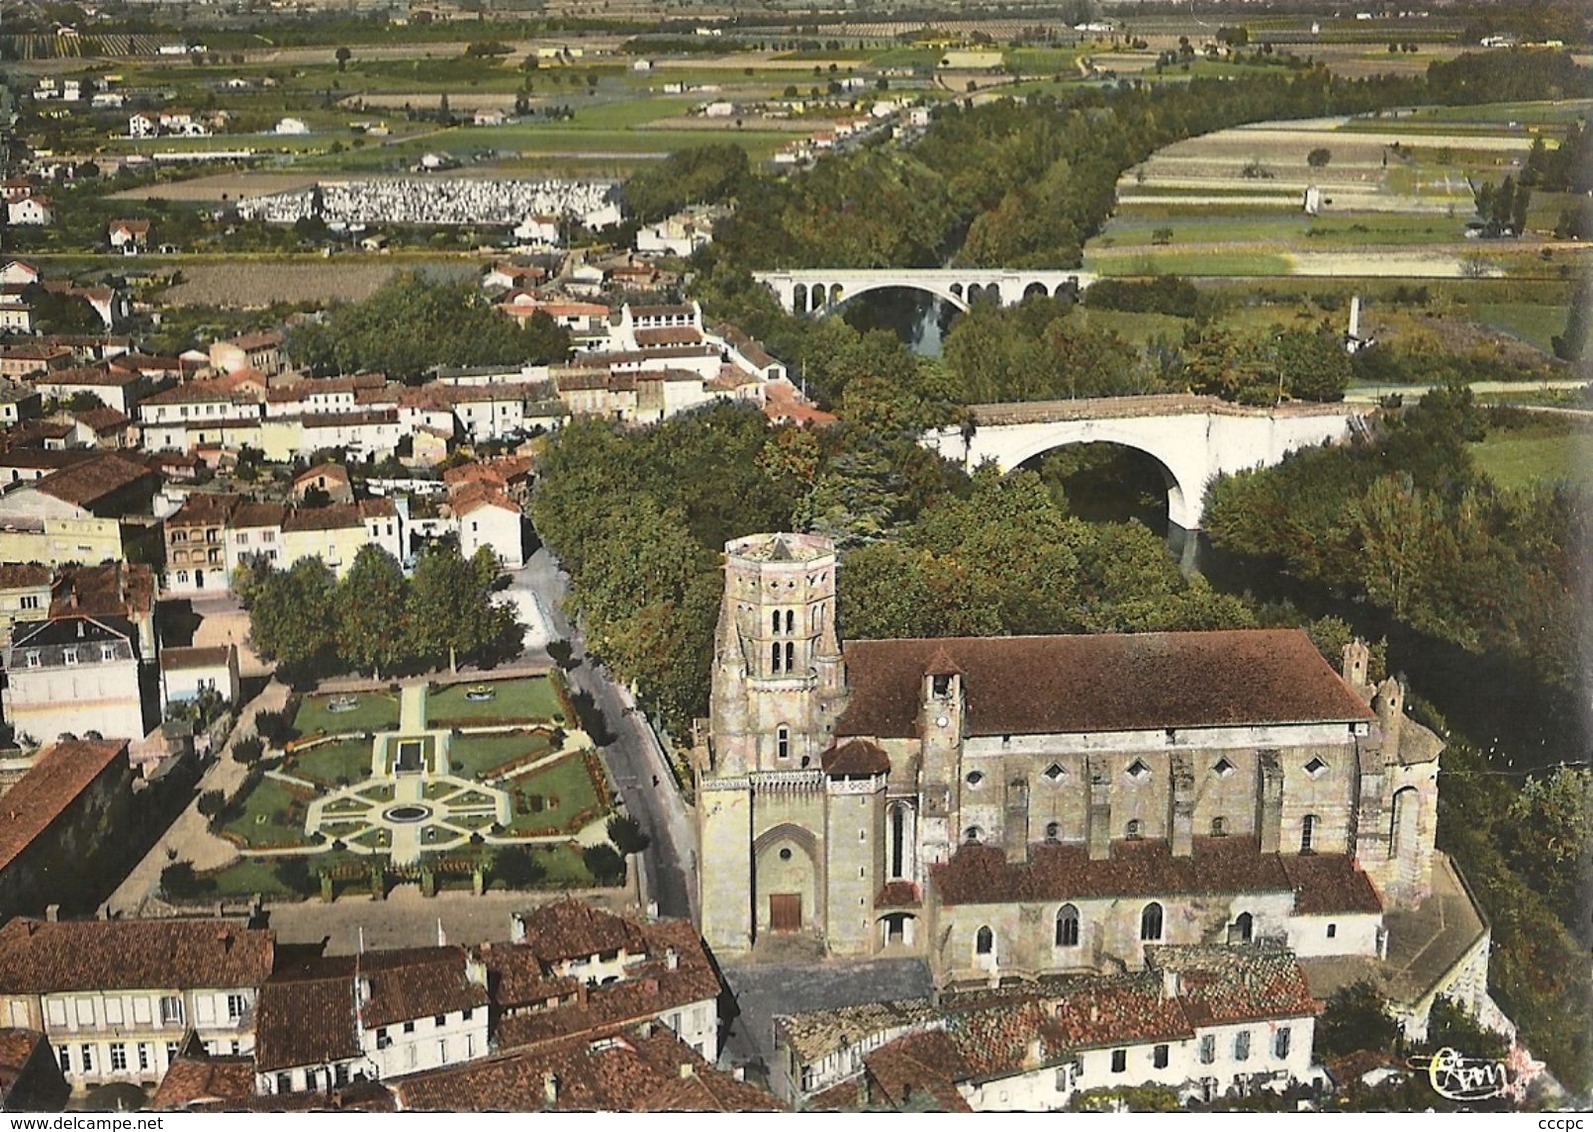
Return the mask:
{"type": "Polygon", "coordinates": [[[153,1086],[186,1032],[212,1054],[255,1049],[276,938],[231,920],[0,927],[0,1019],[43,1030],[73,1091],[153,1086]]]}

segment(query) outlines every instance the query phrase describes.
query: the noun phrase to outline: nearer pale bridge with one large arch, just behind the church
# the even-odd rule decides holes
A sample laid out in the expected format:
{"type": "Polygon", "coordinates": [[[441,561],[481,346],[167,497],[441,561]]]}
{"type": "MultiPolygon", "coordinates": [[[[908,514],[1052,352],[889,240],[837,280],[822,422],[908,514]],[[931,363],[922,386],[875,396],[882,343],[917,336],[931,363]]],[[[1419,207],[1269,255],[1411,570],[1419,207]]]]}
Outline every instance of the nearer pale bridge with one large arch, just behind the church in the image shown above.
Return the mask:
{"type": "Polygon", "coordinates": [[[975,404],[969,412],[969,427],[929,433],[926,447],[969,470],[994,460],[1002,471],[1064,444],[1133,447],[1161,463],[1168,521],[1184,530],[1200,529],[1206,484],[1219,473],[1270,466],[1365,427],[1364,409],[1346,404],[1249,408],[1188,393],[975,404]]]}

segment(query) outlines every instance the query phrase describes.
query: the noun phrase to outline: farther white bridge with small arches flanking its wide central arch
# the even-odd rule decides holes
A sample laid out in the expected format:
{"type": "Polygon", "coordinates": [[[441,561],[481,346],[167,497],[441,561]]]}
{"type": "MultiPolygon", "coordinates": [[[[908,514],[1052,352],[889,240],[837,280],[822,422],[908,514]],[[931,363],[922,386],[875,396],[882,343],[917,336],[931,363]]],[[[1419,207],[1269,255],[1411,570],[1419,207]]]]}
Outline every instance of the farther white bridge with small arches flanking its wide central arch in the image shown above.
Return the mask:
{"type": "Polygon", "coordinates": [[[1010,267],[801,267],[757,271],[753,279],[774,291],[792,314],[828,314],[847,299],[887,287],[926,291],[967,310],[981,298],[1005,307],[1027,295],[1070,295],[1094,282],[1094,275],[1083,271],[1010,267]]]}

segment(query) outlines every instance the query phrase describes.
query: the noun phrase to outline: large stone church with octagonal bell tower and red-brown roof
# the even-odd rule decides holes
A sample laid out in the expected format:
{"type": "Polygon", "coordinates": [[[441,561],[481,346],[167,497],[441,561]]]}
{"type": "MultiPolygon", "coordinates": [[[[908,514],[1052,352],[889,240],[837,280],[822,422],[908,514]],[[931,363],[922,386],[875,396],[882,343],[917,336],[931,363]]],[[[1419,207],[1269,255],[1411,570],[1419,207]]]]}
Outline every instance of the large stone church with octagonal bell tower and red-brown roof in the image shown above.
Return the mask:
{"type": "MultiPolygon", "coordinates": [[[[819,535],[726,545],[695,751],[703,936],[922,955],[941,986],[1145,944],[1384,954],[1442,742],[1301,630],[860,640],[819,535]]],[[[1483,958],[1486,962],[1486,958],[1483,958]]]]}

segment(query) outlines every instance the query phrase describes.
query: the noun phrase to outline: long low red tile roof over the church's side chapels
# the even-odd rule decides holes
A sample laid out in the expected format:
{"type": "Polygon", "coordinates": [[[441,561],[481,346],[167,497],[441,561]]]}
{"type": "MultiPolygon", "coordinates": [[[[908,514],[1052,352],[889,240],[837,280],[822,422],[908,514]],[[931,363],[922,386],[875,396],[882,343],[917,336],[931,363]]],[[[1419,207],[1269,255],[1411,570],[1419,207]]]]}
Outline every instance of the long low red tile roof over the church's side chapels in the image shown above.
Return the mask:
{"type": "Polygon", "coordinates": [[[1174,857],[1164,841],[1114,841],[1099,861],[1083,845],[1031,845],[1020,863],[996,847],[961,845],[949,861],[930,866],[930,880],[945,904],[1292,892],[1298,911],[1380,911],[1349,857],[1262,853],[1249,837],[1195,837],[1190,857],[1174,857]]]}

